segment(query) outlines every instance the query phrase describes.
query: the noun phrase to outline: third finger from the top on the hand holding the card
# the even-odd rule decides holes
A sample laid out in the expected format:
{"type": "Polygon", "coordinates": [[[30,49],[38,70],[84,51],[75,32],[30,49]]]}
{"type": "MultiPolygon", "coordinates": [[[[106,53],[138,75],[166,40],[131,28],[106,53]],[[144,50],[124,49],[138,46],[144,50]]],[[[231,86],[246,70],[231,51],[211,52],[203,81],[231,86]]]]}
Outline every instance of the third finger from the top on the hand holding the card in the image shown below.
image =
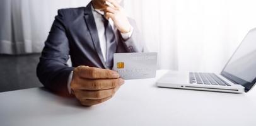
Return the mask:
{"type": "Polygon", "coordinates": [[[76,90],[76,98],[79,100],[102,100],[103,98],[108,98],[113,96],[117,90],[120,88],[113,88],[113,89],[105,89],[100,91],[86,91],[86,90],[76,90]]]}

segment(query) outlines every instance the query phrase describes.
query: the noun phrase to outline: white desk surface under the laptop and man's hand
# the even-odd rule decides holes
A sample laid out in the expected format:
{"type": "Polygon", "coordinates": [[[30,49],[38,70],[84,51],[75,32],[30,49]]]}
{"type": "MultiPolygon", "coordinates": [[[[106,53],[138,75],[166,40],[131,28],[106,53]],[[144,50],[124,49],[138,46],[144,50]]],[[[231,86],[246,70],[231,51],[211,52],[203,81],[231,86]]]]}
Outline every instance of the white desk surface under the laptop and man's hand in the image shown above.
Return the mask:
{"type": "Polygon", "coordinates": [[[255,88],[215,93],[156,88],[155,81],[125,81],[111,100],[92,107],[42,88],[0,93],[0,125],[256,125],[255,88]]]}

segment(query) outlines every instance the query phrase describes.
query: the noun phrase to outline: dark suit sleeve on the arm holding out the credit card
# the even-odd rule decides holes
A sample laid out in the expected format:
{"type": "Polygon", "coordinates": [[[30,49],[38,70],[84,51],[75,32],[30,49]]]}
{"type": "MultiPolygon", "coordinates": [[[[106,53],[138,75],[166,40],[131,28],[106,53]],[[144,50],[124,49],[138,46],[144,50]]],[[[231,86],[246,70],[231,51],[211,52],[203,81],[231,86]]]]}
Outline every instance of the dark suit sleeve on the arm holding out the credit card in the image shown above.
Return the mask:
{"type": "Polygon", "coordinates": [[[59,10],[58,15],[55,16],[37,66],[37,77],[45,88],[60,95],[69,95],[67,79],[74,68],[66,64],[69,59],[69,40],[63,15],[59,10]]]}

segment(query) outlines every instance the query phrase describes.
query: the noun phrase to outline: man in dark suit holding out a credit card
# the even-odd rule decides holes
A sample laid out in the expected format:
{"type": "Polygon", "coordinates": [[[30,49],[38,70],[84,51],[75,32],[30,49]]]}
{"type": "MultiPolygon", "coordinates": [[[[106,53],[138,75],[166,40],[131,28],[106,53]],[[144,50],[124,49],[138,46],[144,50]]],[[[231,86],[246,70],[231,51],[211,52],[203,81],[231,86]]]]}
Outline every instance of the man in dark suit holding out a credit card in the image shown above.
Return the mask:
{"type": "Polygon", "coordinates": [[[92,0],[85,8],[58,11],[37,76],[56,93],[74,95],[85,106],[96,105],[112,98],[124,84],[111,70],[113,54],[144,50],[134,21],[117,0],[92,0]],[[69,55],[73,67],[66,64],[69,55]]]}

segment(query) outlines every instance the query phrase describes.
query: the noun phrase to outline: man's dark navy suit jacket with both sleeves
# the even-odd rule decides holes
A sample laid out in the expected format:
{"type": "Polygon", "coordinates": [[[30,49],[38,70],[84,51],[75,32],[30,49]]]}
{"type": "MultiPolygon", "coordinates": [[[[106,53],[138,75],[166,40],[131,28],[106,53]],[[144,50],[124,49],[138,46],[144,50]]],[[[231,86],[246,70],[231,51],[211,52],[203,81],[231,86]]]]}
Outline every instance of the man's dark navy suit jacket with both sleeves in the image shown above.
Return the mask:
{"type": "MultiPolygon", "coordinates": [[[[117,53],[143,52],[134,21],[132,37],[122,40],[117,37],[117,53]]],[[[60,9],[45,42],[45,47],[37,66],[37,76],[44,86],[57,93],[67,95],[67,79],[74,67],[90,66],[106,69],[98,31],[91,11],[91,3],[81,8],[60,9]],[[66,62],[71,57],[73,67],[66,62]]]]}

